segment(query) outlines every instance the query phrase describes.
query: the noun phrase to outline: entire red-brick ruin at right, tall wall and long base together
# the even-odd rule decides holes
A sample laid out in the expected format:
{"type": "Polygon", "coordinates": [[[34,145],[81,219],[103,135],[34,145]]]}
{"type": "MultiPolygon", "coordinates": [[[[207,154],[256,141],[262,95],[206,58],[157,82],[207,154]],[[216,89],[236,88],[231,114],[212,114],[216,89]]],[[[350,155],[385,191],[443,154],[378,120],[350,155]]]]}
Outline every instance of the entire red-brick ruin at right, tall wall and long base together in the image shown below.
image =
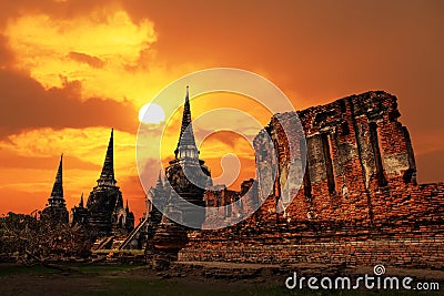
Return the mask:
{"type": "MultiPolygon", "coordinates": [[[[249,184],[253,190],[246,200],[265,198],[263,205],[234,226],[190,232],[179,259],[443,268],[444,183],[416,184],[412,143],[397,120],[396,98],[366,92],[296,114],[307,151],[306,170],[294,172],[305,174],[301,190],[287,171],[294,161],[289,151],[304,149],[295,113],[276,114],[254,140],[259,177],[258,184],[249,184]],[[265,133],[276,155],[268,153],[265,133]],[[264,175],[273,162],[274,181],[264,175]],[[266,196],[258,191],[261,182],[273,182],[266,196]],[[292,200],[282,213],[280,198],[292,200]]],[[[206,205],[230,204],[240,195],[208,191],[206,205]]],[[[233,215],[225,214],[228,220],[233,215]]]]}

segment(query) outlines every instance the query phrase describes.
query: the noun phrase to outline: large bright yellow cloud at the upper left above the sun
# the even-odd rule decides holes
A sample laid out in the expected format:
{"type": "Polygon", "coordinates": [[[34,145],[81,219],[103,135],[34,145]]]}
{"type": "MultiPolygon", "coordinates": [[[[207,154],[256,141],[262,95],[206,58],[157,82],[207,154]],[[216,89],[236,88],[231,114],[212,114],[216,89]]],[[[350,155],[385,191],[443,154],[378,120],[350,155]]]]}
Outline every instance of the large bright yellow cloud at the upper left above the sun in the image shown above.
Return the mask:
{"type": "Polygon", "coordinates": [[[83,100],[132,100],[138,108],[149,98],[151,72],[139,67],[157,41],[148,19],[134,23],[114,6],[65,19],[38,13],[10,20],[4,34],[18,58],[16,68],[46,89],[79,81],[83,100]]]}

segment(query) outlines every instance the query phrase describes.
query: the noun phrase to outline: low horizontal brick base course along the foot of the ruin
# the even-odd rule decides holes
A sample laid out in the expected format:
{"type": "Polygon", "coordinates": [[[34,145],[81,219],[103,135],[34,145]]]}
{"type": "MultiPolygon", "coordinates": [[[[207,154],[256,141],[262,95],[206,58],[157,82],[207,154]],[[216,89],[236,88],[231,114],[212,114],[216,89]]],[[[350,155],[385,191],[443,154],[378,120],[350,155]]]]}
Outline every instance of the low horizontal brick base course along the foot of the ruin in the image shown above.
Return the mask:
{"type": "Polygon", "coordinates": [[[345,264],[346,266],[384,266],[443,268],[443,237],[369,238],[366,241],[322,242],[279,245],[223,245],[181,252],[180,261],[223,261],[262,264],[345,264]]]}

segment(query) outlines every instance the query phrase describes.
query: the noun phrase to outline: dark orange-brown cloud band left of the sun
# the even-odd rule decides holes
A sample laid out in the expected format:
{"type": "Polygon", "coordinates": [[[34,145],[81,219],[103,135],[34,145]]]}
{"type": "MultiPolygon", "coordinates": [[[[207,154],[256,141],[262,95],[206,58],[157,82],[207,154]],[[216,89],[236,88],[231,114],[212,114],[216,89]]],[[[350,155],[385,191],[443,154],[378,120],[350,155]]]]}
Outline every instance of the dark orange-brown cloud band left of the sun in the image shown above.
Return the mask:
{"type": "Polygon", "coordinates": [[[24,73],[0,69],[0,139],[36,127],[113,126],[133,133],[138,111],[130,102],[82,101],[80,82],[46,90],[24,73]]]}

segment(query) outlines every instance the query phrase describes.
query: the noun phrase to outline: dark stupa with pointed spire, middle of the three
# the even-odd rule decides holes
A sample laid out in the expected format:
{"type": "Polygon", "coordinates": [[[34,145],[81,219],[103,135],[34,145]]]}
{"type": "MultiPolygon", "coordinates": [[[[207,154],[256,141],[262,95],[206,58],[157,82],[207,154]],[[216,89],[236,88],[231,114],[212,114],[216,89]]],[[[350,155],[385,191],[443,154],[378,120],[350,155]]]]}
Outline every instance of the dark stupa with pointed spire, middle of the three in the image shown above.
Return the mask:
{"type": "Polygon", "coordinates": [[[113,141],[111,130],[102,172],[88,197],[87,207],[82,195],[79,206],[72,208],[72,223],[84,225],[92,237],[128,234],[134,228],[134,215],[128,201],[124,206],[122,193],[115,185],[113,141]]]}

